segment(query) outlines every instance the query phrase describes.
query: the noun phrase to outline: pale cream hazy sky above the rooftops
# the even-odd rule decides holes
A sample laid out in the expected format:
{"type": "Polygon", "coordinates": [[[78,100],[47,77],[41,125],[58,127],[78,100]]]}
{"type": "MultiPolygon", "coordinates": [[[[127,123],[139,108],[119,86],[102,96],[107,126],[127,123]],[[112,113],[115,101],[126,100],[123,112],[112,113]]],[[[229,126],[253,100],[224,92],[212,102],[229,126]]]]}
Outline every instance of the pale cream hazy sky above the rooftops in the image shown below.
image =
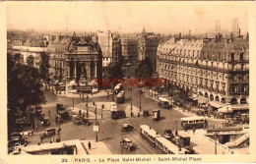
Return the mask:
{"type": "Polygon", "coordinates": [[[220,20],[230,30],[238,19],[248,31],[248,6],[220,2],[16,2],[7,5],[7,28],[201,33],[220,20]]]}

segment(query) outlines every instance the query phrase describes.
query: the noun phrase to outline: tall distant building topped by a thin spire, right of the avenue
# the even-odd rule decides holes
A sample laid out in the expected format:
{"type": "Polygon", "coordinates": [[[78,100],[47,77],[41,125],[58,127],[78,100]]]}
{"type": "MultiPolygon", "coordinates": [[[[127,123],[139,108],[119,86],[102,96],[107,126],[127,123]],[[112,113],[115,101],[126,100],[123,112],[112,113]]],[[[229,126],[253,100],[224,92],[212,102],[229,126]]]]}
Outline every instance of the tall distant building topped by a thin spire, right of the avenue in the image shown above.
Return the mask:
{"type": "Polygon", "coordinates": [[[154,72],[157,70],[157,51],[159,44],[160,35],[151,32],[147,33],[144,28],[139,36],[138,59],[139,61],[143,61],[148,57],[154,72]]]}

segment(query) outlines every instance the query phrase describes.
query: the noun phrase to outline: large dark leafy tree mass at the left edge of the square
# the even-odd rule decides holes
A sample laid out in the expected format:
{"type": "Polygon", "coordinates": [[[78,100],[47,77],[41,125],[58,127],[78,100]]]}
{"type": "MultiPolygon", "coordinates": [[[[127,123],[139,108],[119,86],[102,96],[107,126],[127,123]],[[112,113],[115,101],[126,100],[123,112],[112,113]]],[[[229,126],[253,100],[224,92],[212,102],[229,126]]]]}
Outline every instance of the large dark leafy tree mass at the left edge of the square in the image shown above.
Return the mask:
{"type": "Polygon", "coordinates": [[[41,78],[36,68],[17,63],[12,55],[7,55],[7,98],[11,118],[23,113],[29,105],[45,102],[41,90],[41,78]]]}

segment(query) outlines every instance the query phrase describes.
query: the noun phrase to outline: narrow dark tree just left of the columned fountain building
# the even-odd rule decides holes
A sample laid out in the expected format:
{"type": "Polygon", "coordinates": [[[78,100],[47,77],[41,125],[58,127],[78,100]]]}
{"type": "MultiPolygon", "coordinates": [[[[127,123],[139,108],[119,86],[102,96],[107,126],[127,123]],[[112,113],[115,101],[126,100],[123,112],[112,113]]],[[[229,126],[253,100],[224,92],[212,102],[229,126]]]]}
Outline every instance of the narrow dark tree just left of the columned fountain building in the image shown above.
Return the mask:
{"type": "Polygon", "coordinates": [[[50,68],[49,55],[46,53],[41,53],[40,63],[39,63],[39,73],[40,73],[40,78],[45,83],[45,89],[47,89],[47,85],[49,86],[49,82],[50,82],[49,68],[50,68]]]}

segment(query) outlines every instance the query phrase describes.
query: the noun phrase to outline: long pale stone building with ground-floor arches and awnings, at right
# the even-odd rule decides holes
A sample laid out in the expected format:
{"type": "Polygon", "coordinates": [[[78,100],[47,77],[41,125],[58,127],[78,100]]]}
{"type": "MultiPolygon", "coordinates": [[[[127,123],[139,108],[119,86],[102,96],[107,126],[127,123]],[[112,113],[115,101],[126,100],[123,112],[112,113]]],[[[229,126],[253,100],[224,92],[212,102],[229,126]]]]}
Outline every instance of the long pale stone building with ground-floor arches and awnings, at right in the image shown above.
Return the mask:
{"type": "Polygon", "coordinates": [[[184,89],[207,98],[216,108],[246,104],[249,99],[248,37],[175,39],[158,48],[158,73],[184,89]]]}

